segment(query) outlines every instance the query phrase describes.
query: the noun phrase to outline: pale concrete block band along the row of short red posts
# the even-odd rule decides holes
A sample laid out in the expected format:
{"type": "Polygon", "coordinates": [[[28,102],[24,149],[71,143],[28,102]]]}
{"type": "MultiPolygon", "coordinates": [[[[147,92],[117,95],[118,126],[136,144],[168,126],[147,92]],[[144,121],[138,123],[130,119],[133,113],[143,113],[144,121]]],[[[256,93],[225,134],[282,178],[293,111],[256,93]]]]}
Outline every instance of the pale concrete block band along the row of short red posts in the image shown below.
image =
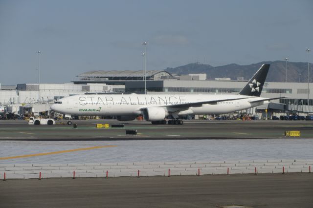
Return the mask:
{"type": "Polygon", "coordinates": [[[49,177],[109,177],[133,176],[138,170],[140,176],[167,176],[171,169],[174,175],[196,175],[198,169],[205,174],[246,174],[254,173],[285,173],[309,172],[313,160],[240,160],[240,161],[182,161],[182,162],[134,162],[134,163],[70,163],[70,164],[0,164],[0,177],[6,173],[7,179],[49,177]]]}

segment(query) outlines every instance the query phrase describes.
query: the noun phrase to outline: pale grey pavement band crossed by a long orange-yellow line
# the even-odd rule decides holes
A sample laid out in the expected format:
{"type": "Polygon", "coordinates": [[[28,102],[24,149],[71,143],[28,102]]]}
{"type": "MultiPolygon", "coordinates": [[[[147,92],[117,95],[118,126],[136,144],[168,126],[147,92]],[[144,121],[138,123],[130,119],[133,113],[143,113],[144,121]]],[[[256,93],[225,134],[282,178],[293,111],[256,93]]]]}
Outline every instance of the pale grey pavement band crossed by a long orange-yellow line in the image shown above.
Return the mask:
{"type": "Polygon", "coordinates": [[[0,164],[313,159],[312,139],[0,141],[0,164]]]}

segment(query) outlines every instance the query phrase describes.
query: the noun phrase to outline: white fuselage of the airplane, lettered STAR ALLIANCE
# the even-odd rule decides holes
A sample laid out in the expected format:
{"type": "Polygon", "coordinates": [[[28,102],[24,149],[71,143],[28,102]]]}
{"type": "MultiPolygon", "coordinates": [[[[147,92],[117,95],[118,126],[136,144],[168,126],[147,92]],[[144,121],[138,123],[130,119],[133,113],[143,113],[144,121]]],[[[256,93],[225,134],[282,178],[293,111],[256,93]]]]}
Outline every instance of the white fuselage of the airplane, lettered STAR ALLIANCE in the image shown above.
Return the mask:
{"type": "Polygon", "coordinates": [[[188,114],[224,114],[238,110],[255,107],[268,101],[264,98],[244,95],[75,95],[60,99],[51,109],[58,113],[78,116],[123,116],[140,115],[142,109],[147,107],[162,107],[169,113],[177,112],[178,115],[188,114]],[[245,98],[245,99],[243,99],[245,98]],[[201,104],[199,106],[179,107],[178,104],[192,104],[205,101],[239,99],[216,104],[201,104]]]}

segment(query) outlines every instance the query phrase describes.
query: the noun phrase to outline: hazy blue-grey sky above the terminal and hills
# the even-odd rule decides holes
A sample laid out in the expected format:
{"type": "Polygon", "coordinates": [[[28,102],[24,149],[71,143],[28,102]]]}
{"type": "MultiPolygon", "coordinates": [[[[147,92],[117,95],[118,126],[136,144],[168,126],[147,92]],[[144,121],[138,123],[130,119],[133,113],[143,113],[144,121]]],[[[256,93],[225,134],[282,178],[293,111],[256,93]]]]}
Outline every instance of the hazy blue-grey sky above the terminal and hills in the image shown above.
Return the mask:
{"type": "MultiPolygon", "coordinates": [[[[91,70],[307,62],[312,0],[0,0],[0,83],[69,83],[91,70]]],[[[310,55],[310,62],[313,53],[310,55]]]]}

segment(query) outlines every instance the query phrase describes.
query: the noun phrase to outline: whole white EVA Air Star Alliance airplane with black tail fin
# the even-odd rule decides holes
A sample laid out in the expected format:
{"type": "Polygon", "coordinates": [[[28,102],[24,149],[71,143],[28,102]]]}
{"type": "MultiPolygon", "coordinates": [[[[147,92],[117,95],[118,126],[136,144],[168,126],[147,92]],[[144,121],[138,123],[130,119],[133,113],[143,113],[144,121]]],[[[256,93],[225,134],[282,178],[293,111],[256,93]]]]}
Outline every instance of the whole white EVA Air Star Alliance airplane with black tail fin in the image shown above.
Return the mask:
{"type": "MultiPolygon", "coordinates": [[[[246,86],[235,94],[122,94],[74,95],[51,105],[54,112],[71,116],[114,116],[118,121],[132,121],[142,115],[144,120],[156,124],[182,125],[185,115],[225,114],[256,107],[279,98],[260,97],[269,64],[263,64],[246,86]],[[166,122],[166,118],[173,119],[166,122]]],[[[70,121],[67,123],[71,124],[70,121]]]]}

